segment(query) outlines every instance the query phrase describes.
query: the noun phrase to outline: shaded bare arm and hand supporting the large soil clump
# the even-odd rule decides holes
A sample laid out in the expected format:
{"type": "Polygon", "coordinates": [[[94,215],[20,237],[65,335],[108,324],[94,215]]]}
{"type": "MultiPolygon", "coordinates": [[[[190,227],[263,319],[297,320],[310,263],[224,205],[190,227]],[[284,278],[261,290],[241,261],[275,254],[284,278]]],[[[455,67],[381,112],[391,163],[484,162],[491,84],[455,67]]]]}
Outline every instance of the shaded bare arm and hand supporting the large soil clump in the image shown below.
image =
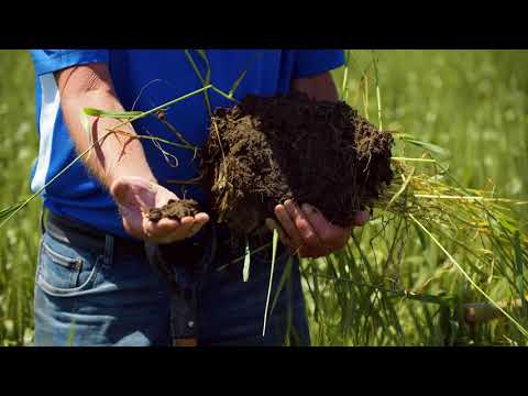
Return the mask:
{"type": "MultiPolygon", "coordinates": [[[[338,101],[338,89],[329,72],[307,78],[295,79],[292,88],[307,94],[316,100],[338,101]]],[[[322,213],[308,205],[299,208],[288,199],[275,207],[275,216],[280,222],[280,239],[298,251],[304,257],[320,257],[339,250],[346,243],[351,229],[330,223],[322,213]],[[285,231],[285,233],[283,232],[285,231]]],[[[367,212],[359,212],[355,226],[363,226],[369,220],[367,212]]],[[[276,226],[270,222],[270,227],[276,226]]]]}

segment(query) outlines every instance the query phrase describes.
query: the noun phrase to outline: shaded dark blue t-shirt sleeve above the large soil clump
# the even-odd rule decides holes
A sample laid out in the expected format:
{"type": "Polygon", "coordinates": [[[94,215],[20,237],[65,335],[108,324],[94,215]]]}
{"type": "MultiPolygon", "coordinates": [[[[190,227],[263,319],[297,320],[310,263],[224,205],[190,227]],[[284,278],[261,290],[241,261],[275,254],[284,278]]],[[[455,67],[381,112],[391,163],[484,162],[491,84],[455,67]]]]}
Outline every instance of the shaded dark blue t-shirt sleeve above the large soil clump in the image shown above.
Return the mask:
{"type": "Polygon", "coordinates": [[[293,77],[310,77],[343,65],[343,50],[298,50],[295,53],[293,77]]]}

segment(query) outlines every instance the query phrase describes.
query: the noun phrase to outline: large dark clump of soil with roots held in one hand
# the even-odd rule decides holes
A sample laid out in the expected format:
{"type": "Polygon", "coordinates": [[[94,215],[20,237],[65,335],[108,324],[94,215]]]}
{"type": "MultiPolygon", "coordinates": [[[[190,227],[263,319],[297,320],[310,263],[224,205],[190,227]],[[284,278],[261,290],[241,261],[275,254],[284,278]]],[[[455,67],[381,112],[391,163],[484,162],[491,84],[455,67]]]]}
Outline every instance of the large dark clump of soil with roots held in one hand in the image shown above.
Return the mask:
{"type": "Polygon", "coordinates": [[[248,96],[217,109],[201,153],[211,207],[237,234],[274,217],[293,198],[331,222],[351,226],[393,178],[389,132],[376,130],[344,102],[304,94],[248,96]]]}

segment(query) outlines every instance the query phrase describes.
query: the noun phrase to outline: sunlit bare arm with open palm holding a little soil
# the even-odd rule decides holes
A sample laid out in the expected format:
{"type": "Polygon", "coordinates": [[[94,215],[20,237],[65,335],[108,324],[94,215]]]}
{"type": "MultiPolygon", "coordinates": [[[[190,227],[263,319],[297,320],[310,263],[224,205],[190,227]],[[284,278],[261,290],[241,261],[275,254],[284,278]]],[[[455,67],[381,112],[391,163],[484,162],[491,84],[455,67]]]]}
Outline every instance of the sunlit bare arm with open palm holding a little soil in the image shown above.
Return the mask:
{"type": "MultiPolygon", "coordinates": [[[[89,139],[80,123],[82,108],[122,111],[113,90],[110,73],[105,64],[74,66],[55,74],[64,120],[78,152],[89,146],[89,139]]],[[[157,223],[146,218],[146,209],[160,207],[176,195],[160,186],[153,175],[135,131],[128,124],[120,130],[129,135],[109,133],[121,122],[100,118],[91,125],[94,147],[85,163],[106,186],[120,209],[124,229],[139,239],[170,243],[189,238],[209,220],[206,213],[186,217],[182,221],[162,219],[157,223]]]]}

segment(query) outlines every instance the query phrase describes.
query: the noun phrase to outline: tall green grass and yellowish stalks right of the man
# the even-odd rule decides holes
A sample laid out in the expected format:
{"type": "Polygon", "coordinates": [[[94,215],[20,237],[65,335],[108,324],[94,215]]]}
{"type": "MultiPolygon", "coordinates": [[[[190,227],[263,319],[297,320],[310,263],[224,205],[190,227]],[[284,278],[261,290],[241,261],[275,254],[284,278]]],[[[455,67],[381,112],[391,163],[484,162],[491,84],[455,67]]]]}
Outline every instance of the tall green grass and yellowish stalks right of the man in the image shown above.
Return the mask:
{"type": "MultiPolygon", "coordinates": [[[[515,72],[515,62],[526,58],[527,54],[503,52],[499,55],[502,57],[493,52],[389,52],[383,54],[378,64],[373,63],[377,54],[354,52],[349,57],[349,68],[341,73],[355,73],[355,76],[349,79],[349,85],[342,85],[342,89],[348,88],[348,92],[342,94],[353,107],[361,108],[366,103],[364,107],[370,110],[365,109],[364,113],[377,113],[381,122],[381,85],[384,109],[387,109],[384,122],[388,122],[388,130],[410,132],[420,140],[450,148],[453,155],[449,161],[440,158],[446,161],[438,163],[427,158],[396,166],[398,177],[393,194],[405,190],[396,202],[406,205],[406,208],[395,208],[397,210],[393,213],[375,211],[374,221],[359,230],[343,252],[315,262],[305,261],[305,287],[310,297],[310,312],[315,319],[312,332],[317,343],[527,343],[526,310],[514,304],[516,299],[522,301],[526,284],[526,232],[521,238],[524,242],[517,237],[526,230],[526,221],[522,220],[526,220],[526,205],[508,206],[506,201],[493,199],[497,195],[527,197],[521,176],[526,156],[509,148],[512,142],[518,147],[526,147],[526,91],[519,95],[519,89],[515,89],[517,86],[505,89],[505,81],[501,79],[505,76],[499,77],[496,72],[504,67],[507,80],[520,84],[515,77],[521,74],[520,70],[515,72]],[[399,63],[398,56],[402,56],[399,63]],[[458,89],[450,86],[432,95],[432,88],[441,88],[442,81],[452,77],[453,65],[460,65],[460,59],[464,57],[471,61],[468,64],[473,67],[464,68],[465,76],[477,84],[477,90],[485,87],[486,92],[499,92],[505,99],[510,94],[520,102],[513,106],[514,101],[508,100],[510,106],[507,107],[501,100],[497,103],[493,95],[474,96],[460,81],[457,85],[452,82],[458,89]],[[507,57],[510,63],[504,62],[507,57]],[[393,62],[397,63],[394,67],[393,62]],[[415,63],[416,68],[413,67],[415,63]],[[477,67],[483,64],[487,66],[477,67]],[[395,76],[394,70],[398,66],[405,66],[407,70],[395,76]],[[496,68],[496,79],[490,78],[490,68],[496,68]],[[479,77],[481,69],[484,70],[482,78],[479,77]],[[399,85],[406,75],[413,84],[416,84],[417,76],[421,79],[419,89],[411,90],[415,94],[413,97],[408,94],[410,87],[399,85]],[[383,76],[382,81],[377,76],[383,76]],[[392,76],[394,80],[391,80],[392,76]],[[433,87],[424,84],[428,80],[433,87]],[[405,98],[402,102],[400,97],[405,98]],[[516,122],[498,122],[505,121],[501,111],[509,111],[508,119],[516,122]],[[409,123],[398,123],[396,116],[403,119],[407,112],[411,112],[409,123]],[[436,120],[439,117],[446,118],[441,125],[446,133],[437,132],[436,120]],[[476,123],[474,119],[482,123],[476,123]],[[501,129],[501,133],[487,132],[487,140],[482,139],[479,134],[491,129],[486,122],[497,131],[501,129]],[[416,130],[409,129],[409,124],[416,130]],[[461,131],[449,133],[453,125],[461,131]],[[472,133],[469,134],[470,125],[479,127],[470,129],[472,133]],[[497,141],[501,142],[498,147],[497,141]],[[461,154],[465,147],[472,150],[469,157],[461,154]],[[488,168],[481,173],[468,169],[475,166],[471,164],[481,162],[490,165],[488,168]],[[497,169],[491,166],[493,164],[510,167],[497,169]],[[448,166],[449,172],[446,172],[448,166]],[[399,176],[406,180],[402,183],[399,176]],[[490,176],[495,184],[490,182],[490,176]],[[463,188],[465,186],[479,189],[468,190],[463,188]],[[498,202],[504,207],[495,206],[498,202]],[[417,213],[420,220],[415,217],[417,213]],[[468,324],[464,320],[468,310],[464,308],[470,301],[493,301],[487,309],[492,309],[496,301],[503,301],[495,308],[503,315],[496,315],[501,317],[497,321],[468,324]]],[[[336,77],[339,80],[342,75],[337,73],[336,77]]],[[[409,157],[421,154],[422,150],[424,145],[419,148],[399,145],[396,155],[409,157]]]]}

